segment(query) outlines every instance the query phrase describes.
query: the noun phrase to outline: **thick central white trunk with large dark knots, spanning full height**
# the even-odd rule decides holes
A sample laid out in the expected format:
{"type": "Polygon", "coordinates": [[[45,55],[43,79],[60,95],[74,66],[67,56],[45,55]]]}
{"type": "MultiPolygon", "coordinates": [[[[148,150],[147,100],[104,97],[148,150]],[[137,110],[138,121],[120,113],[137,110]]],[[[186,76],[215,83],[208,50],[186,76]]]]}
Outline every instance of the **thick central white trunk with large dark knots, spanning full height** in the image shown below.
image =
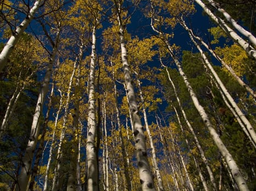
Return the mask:
{"type": "Polygon", "coordinates": [[[136,104],[135,93],[132,85],[132,79],[130,77],[130,69],[127,60],[127,49],[124,40],[124,25],[121,16],[121,2],[118,1],[117,3],[116,0],[114,1],[117,11],[117,20],[119,24],[119,37],[121,45],[124,80],[126,82],[127,94],[129,99],[129,108],[132,113],[132,121],[134,126],[134,137],[136,142],[136,159],[138,162],[140,183],[143,190],[155,190],[152,172],[150,170],[149,161],[147,160],[145,134],[143,132],[143,126],[141,125],[139,110],[136,104]]]}

